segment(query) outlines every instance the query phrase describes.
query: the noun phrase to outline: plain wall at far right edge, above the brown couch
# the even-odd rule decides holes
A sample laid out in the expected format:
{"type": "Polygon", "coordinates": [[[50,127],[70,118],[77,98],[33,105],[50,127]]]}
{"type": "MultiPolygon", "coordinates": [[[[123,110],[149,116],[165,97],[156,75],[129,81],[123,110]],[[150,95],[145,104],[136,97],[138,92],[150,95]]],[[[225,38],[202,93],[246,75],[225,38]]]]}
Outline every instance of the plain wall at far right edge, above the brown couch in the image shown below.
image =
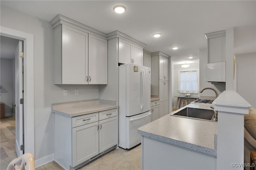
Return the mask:
{"type": "Polygon", "coordinates": [[[256,53],[236,55],[236,92],[256,108],[256,53]]]}

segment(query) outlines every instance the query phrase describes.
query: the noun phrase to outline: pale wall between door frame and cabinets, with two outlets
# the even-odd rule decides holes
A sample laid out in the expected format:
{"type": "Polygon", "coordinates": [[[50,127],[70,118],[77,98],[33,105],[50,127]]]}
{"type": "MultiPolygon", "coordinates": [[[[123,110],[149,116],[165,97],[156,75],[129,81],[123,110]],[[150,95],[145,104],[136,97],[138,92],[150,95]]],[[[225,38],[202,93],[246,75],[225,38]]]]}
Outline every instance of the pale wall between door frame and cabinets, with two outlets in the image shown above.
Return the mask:
{"type": "Polygon", "coordinates": [[[52,103],[98,99],[98,85],[54,85],[54,36],[48,21],[1,6],[1,26],[34,35],[34,156],[44,162],[54,154],[52,103]],[[68,96],[63,96],[63,89],[68,89],[68,96]]]}

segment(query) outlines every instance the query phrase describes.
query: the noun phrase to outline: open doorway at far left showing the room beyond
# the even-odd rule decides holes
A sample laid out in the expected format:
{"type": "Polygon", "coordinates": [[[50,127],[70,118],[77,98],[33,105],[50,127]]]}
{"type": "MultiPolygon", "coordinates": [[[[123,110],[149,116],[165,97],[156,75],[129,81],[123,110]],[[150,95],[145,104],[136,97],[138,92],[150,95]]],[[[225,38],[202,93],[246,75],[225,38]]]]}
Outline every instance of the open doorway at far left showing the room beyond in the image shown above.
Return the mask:
{"type": "Polygon", "coordinates": [[[20,103],[20,99],[23,99],[23,56],[21,55],[23,54],[23,41],[2,35],[0,40],[0,90],[1,107],[3,107],[1,118],[6,118],[6,121],[3,121],[6,128],[1,129],[1,132],[6,134],[4,141],[10,143],[10,148],[3,147],[2,149],[4,152],[16,150],[16,155],[19,157],[24,154],[24,109],[23,103],[20,103]],[[12,123],[13,121],[15,124],[12,123]],[[12,134],[8,133],[8,130],[11,130],[12,134]],[[13,135],[14,140],[12,140],[13,135]],[[12,146],[15,147],[12,148],[12,146]]]}

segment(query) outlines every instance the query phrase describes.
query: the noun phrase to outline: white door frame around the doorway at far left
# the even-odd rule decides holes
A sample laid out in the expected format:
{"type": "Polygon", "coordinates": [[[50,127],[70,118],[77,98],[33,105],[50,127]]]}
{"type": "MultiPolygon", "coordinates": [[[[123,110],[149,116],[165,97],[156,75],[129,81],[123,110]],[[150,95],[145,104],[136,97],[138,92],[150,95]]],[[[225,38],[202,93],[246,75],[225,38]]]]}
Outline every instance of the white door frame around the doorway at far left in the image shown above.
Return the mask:
{"type": "Polygon", "coordinates": [[[0,35],[24,42],[24,152],[35,155],[34,147],[34,35],[2,27],[0,35]]]}

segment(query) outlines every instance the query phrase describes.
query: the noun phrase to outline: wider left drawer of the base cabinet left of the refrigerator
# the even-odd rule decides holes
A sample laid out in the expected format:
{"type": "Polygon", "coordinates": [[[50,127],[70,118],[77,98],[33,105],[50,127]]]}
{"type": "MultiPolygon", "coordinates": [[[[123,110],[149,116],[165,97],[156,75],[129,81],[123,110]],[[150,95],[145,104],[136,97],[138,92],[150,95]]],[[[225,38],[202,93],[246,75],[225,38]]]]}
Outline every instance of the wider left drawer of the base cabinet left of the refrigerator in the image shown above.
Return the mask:
{"type": "Polygon", "coordinates": [[[99,113],[91,113],[87,115],[72,117],[72,128],[81,125],[86,125],[88,123],[96,122],[99,120],[99,113]]]}

